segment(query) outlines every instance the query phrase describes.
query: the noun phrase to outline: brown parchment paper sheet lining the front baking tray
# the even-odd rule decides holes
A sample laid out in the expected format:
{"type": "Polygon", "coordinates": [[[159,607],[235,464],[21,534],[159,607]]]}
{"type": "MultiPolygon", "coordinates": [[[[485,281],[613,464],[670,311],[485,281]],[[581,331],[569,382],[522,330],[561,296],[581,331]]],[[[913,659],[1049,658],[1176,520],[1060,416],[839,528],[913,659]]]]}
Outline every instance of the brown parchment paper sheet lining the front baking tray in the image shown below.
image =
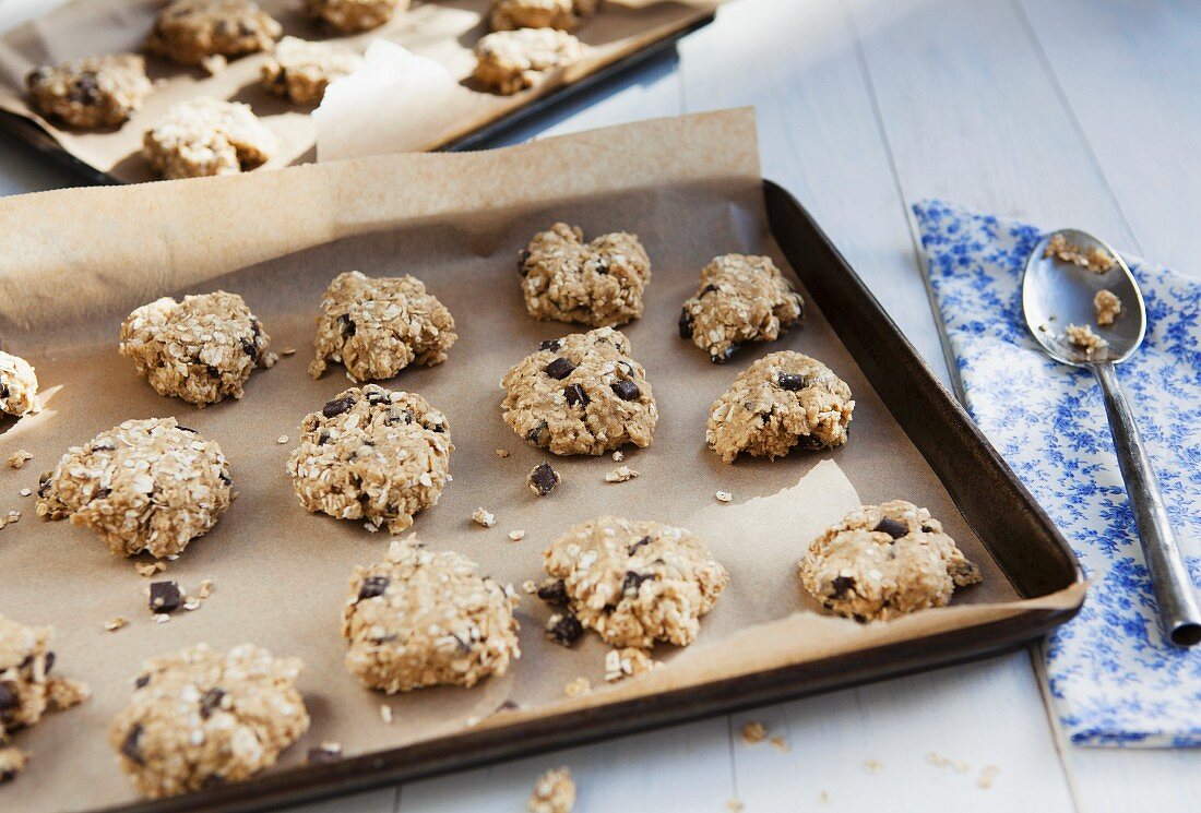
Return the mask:
{"type": "Polygon", "coordinates": [[[324,740],[360,754],[458,731],[468,721],[500,725],[1078,603],[1076,592],[1018,602],[812,303],[802,328],[724,366],[679,339],[680,303],[712,256],[767,252],[783,264],[766,231],[760,184],[754,121],[736,110],[494,153],[383,156],[0,199],[0,339],[36,365],[46,393],[43,412],[10,420],[0,435],[0,458],[16,448],[34,453],[24,470],[0,470],[0,510],[24,512],[0,531],[0,612],[53,624],[55,670],[95,691],[83,706],[18,735],[32,761],[0,790],[0,808],[37,813],[131,801],[106,741],[108,722],[142,659],[197,641],[252,641],[305,660],[300,686],[313,722],[282,759],[293,766],[324,740]],[[653,262],[646,313],[626,331],[662,419],[653,446],[627,454],[639,479],[604,483],[616,465],[609,458],[555,459],[564,482],[538,500],[525,476],[544,455],[503,424],[497,382],[540,340],[572,330],[526,315],[515,269],[530,235],[558,219],[590,234],[635,231],[646,245],[653,262]],[[570,651],[550,644],[542,633],[546,609],[526,597],[519,608],[524,656],[502,679],[384,698],[342,668],[339,614],[349,572],[382,557],[388,538],[305,513],[283,464],[304,414],[347,385],[336,371],[313,381],[305,367],[321,292],[352,268],[420,276],[458,323],[446,364],[406,370],[392,382],[442,408],[456,447],[454,482],[418,516],[418,538],[520,585],[539,576],[543,548],[572,524],[619,513],[683,525],[731,574],[693,647],[661,647],[662,671],[608,686],[605,647],[594,636],[570,651]],[[241,401],[197,410],[155,395],[116,353],[121,317],[154,297],[217,287],[246,298],[273,348],[299,352],[256,372],[241,401]],[[709,403],[752,359],[778,348],[815,355],[850,384],[858,401],[850,443],[832,454],[725,466],[704,448],[709,403]],[[213,579],[214,596],[160,626],[133,562],[109,555],[86,530],[35,519],[32,498],[18,491],[36,488],[38,473],[68,446],[124,419],[166,414],[222,444],[239,497],[167,572],[187,590],[213,579]],[[277,443],[280,435],[289,442],[277,443]],[[512,456],[497,458],[498,448],[512,456]],[[718,489],[731,491],[734,503],[717,503],[718,489]],[[951,608],[890,624],[859,627],[812,612],[794,570],[806,543],[860,501],[898,496],[942,518],[985,582],[961,591],[951,608]],[[496,513],[495,528],[471,522],[477,506],[496,513]],[[508,540],[515,528],[526,531],[524,540],[508,540]],[[116,615],[131,627],[104,632],[102,623],[116,615]],[[593,683],[593,694],[564,699],[563,686],[576,676],[593,683]],[[518,712],[489,717],[508,699],[520,704],[518,712]],[[382,703],[394,709],[392,725],[380,718],[382,703]]]}

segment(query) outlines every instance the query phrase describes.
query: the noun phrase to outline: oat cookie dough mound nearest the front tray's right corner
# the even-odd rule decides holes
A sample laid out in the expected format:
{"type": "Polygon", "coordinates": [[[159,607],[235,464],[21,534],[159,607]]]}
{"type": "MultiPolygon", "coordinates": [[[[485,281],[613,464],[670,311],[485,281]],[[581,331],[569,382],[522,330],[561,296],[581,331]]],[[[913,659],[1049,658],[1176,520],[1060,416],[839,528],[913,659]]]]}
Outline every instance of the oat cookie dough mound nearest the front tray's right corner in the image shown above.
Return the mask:
{"type": "Polygon", "coordinates": [[[856,621],[944,606],[956,587],[981,581],[942,522],[904,500],[853,510],[809,544],[799,567],[813,598],[856,621]]]}

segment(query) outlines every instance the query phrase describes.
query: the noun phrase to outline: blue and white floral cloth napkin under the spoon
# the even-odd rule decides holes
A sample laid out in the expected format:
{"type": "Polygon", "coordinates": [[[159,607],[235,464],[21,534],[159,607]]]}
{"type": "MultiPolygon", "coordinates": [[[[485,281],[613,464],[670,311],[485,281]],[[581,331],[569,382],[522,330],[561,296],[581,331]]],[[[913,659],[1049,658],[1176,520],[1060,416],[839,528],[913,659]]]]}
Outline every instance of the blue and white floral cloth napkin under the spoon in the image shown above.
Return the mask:
{"type": "MultiPolygon", "coordinates": [[[[1201,746],[1201,647],[1173,647],[1160,633],[1100,389],[1091,371],[1045,355],[1022,318],[1022,268],[1041,232],[939,201],[913,211],[966,406],[1091,580],[1080,615],[1046,646],[1064,729],[1077,745],[1201,746]]],[[[1201,281],[1135,257],[1127,262],[1148,327],[1119,377],[1196,584],[1201,281]]]]}

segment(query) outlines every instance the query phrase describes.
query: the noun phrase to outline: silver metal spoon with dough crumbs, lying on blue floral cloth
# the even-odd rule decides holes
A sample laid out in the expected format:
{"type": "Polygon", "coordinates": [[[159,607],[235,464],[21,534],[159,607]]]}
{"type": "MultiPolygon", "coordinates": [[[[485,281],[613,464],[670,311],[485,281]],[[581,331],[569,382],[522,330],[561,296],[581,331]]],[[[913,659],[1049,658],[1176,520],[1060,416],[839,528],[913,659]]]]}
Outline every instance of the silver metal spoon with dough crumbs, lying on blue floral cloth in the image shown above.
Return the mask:
{"type": "Polygon", "coordinates": [[[1155,471],[1143,449],[1134,413],[1113,366],[1139,349],[1147,330],[1147,311],[1139,283],[1109,244],[1085,232],[1065,228],[1044,237],[1026,261],[1022,310],[1027,327],[1051,358],[1076,367],[1091,367],[1097,376],[1105,397],[1122,479],[1130,496],[1155,590],[1164,634],[1176,646],[1201,642],[1201,605],[1196,590],[1184,567],[1155,471]],[[1044,256],[1047,244],[1057,234],[1082,252],[1094,251],[1094,256],[1101,259],[1107,257],[1112,265],[1098,273],[1056,256],[1044,256]],[[1103,288],[1117,294],[1122,311],[1113,324],[1099,327],[1093,298],[1103,288]],[[1066,336],[1069,324],[1089,325],[1107,343],[1092,351],[1072,343],[1066,336]]]}

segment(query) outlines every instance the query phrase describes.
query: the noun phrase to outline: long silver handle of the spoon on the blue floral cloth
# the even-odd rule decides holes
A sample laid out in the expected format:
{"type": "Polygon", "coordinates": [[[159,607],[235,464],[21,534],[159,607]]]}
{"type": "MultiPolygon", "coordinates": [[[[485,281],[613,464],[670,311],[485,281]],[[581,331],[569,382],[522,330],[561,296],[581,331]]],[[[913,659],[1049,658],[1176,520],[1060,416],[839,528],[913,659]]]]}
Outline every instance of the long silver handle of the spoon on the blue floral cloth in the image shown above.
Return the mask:
{"type": "Polygon", "coordinates": [[[1130,507],[1139,526],[1164,634],[1176,646],[1193,646],[1201,642],[1201,605],[1179,545],[1176,544],[1155,470],[1143,449],[1142,438],[1139,437],[1134,412],[1122,391],[1117,369],[1105,363],[1094,364],[1093,371],[1105,396],[1110,432],[1113,435],[1122,479],[1125,480],[1130,507]]]}

